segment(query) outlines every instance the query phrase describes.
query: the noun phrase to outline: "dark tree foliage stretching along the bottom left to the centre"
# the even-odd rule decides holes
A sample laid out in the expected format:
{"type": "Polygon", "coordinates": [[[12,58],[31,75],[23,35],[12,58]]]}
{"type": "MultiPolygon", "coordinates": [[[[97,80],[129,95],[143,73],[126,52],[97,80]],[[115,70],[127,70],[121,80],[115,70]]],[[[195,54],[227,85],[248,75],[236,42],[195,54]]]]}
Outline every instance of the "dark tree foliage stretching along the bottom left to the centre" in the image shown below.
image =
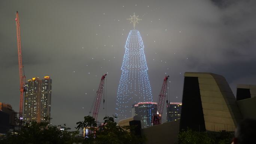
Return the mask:
{"type": "Polygon", "coordinates": [[[104,125],[95,128],[97,123],[91,116],[85,116],[77,122],[77,131],[64,126],[52,126],[49,122],[31,122],[22,126],[19,134],[7,135],[1,144],[141,144],[144,138],[130,132],[134,126],[118,126],[114,117],[104,117],[104,125]],[[79,129],[88,128],[85,137],[79,135],[79,129]]]}

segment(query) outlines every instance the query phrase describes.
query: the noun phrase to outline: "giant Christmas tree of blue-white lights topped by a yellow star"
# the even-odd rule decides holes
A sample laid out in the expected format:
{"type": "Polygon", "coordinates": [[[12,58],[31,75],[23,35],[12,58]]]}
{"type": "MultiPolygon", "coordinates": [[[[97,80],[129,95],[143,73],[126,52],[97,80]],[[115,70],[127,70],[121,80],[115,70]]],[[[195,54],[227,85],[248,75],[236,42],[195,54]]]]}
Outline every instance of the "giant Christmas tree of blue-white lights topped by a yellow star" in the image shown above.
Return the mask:
{"type": "Polygon", "coordinates": [[[127,37],[121,67],[122,75],[116,101],[116,115],[119,119],[131,117],[132,104],[152,101],[144,45],[140,32],[135,30],[135,25],[141,19],[134,14],[128,20],[131,21],[134,29],[127,37]]]}

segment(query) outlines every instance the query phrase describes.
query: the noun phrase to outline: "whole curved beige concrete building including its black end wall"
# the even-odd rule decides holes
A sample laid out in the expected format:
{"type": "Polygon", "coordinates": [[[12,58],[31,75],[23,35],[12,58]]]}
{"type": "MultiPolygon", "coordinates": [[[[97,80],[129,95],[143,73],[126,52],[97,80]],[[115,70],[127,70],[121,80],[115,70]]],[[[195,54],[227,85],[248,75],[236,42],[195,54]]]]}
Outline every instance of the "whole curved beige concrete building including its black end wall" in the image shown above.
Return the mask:
{"type": "Polygon", "coordinates": [[[235,96],[223,76],[185,73],[180,130],[235,131],[241,119],[235,96]]]}

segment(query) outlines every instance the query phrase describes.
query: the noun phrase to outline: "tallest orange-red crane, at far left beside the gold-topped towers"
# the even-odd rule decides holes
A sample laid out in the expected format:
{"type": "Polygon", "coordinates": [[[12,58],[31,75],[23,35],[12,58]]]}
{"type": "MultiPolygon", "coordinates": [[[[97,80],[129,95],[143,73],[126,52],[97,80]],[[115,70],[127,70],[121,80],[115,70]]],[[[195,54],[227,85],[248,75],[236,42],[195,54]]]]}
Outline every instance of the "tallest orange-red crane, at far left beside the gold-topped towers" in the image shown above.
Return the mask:
{"type": "Polygon", "coordinates": [[[22,111],[23,111],[23,93],[26,91],[25,88],[25,74],[24,74],[24,66],[22,63],[22,50],[21,50],[21,31],[19,28],[19,15],[18,11],[16,12],[16,30],[17,30],[17,45],[18,45],[18,59],[19,59],[19,120],[22,120],[22,111]]]}

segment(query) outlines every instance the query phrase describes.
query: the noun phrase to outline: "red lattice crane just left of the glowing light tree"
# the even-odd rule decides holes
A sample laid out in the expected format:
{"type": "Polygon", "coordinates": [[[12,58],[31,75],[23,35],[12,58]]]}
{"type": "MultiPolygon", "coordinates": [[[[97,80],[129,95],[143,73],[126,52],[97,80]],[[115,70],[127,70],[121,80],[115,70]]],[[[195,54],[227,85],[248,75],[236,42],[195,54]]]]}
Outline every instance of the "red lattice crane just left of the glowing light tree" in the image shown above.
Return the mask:
{"type": "Polygon", "coordinates": [[[100,85],[99,85],[99,88],[98,88],[98,91],[97,91],[97,95],[95,97],[95,104],[94,104],[94,110],[93,110],[92,116],[94,117],[96,122],[97,122],[98,112],[99,112],[99,109],[100,109],[101,96],[103,94],[104,80],[105,80],[106,76],[107,76],[107,74],[104,74],[101,77],[100,85]]]}

